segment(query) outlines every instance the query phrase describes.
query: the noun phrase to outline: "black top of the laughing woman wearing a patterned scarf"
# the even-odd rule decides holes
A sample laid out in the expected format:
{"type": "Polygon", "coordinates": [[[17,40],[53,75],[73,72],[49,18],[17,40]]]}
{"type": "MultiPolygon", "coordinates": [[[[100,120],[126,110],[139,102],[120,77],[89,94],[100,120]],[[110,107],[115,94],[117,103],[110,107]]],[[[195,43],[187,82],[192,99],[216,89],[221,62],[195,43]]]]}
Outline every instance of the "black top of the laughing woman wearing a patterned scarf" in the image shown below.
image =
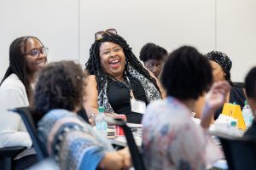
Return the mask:
{"type": "MultiPolygon", "coordinates": [[[[148,100],[143,89],[143,85],[134,77],[129,77],[131,88],[135,99],[142,100],[148,105],[148,100]]],[[[108,82],[108,101],[113,111],[117,114],[126,115],[127,122],[141,123],[143,114],[131,112],[130,90],[127,82],[108,82]]]]}

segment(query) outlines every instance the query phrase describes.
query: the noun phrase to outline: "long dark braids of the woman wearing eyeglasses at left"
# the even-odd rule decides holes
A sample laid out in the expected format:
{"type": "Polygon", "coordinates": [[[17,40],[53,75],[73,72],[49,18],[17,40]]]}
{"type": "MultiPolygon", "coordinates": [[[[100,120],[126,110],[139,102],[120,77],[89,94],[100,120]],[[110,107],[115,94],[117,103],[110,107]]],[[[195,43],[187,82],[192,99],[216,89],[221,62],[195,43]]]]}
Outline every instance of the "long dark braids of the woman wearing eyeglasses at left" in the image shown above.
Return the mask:
{"type": "Polygon", "coordinates": [[[29,102],[32,102],[32,87],[28,80],[27,76],[27,63],[26,58],[23,53],[26,52],[26,42],[29,38],[35,38],[37,39],[42,46],[44,47],[43,43],[37,38],[37,37],[18,37],[10,44],[9,47],[9,67],[7,71],[4,74],[4,77],[0,83],[0,86],[2,85],[3,81],[9,77],[11,74],[15,74],[17,77],[19,77],[20,81],[24,84],[26,89],[26,95],[29,99],[29,102]],[[23,52],[23,53],[22,53],[23,52]]]}

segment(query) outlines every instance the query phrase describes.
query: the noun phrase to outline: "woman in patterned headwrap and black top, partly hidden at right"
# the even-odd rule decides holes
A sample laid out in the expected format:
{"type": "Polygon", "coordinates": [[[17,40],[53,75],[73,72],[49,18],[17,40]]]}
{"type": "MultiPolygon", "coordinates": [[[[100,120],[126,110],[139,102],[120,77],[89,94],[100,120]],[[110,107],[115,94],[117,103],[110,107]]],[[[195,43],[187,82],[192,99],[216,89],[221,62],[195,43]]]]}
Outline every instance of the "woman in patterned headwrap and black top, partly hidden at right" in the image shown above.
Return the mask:
{"type": "MultiPolygon", "coordinates": [[[[212,65],[213,82],[227,81],[230,83],[231,88],[225,98],[224,103],[236,103],[236,105],[240,105],[242,109],[246,100],[244,88],[234,86],[233,82],[230,79],[230,70],[232,67],[232,61],[230,60],[230,58],[220,51],[212,51],[210,53],[207,53],[205,56],[207,57],[207,59],[210,60],[210,64],[212,65]]],[[[201,115],[203,103],[204,98],[202,97],[201,99],[199,99],[199,102],[197,104],[198,106],[195,111],[197,116],[201,115]]],[[[222,110],[223,105],[221,105],[215,112],[214,120],[218,119],[218,116],[221,114],[222,110]]]]}

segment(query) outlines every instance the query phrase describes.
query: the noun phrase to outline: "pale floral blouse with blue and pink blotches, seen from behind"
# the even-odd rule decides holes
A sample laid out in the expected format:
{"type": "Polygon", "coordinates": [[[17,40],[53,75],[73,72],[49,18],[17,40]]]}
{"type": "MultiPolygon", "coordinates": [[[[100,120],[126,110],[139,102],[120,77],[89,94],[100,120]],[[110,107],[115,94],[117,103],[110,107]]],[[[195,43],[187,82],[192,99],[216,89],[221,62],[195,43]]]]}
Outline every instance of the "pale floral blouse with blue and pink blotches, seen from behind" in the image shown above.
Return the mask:
{"type": "Polygon", "coordinates": [[[206,169],[223,154],[191,111],[168,97],[148,105],[143,116],[143,159],[147,169],[206,169]]]}

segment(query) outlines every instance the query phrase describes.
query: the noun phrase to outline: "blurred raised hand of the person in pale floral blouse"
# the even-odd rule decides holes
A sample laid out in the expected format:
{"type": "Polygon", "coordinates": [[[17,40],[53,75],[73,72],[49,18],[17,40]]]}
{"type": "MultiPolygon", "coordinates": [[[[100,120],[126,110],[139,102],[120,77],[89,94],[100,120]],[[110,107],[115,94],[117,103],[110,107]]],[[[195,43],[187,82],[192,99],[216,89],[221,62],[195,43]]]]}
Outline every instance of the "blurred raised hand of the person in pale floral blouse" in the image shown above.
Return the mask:
{"type": "Polygon", "coordinates": [[[205,106],[209,111],[216,111],[224,104],[226,95],[230,92],[230,84],[226,81],[215,82],[206,95],[205,106]]]}

